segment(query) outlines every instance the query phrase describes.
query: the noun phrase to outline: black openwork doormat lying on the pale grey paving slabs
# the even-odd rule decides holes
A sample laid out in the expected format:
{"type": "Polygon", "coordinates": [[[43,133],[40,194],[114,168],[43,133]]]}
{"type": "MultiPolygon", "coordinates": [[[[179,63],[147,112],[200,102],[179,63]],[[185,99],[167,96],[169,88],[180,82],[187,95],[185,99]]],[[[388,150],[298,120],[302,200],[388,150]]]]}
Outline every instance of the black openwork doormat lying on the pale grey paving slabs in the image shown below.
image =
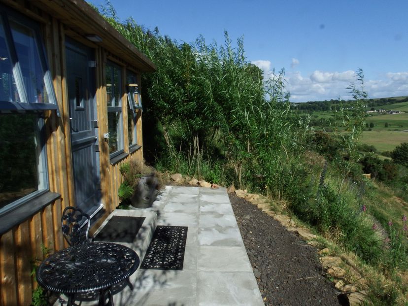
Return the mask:
{"type": "Polygon", "coordinates": [[[187,226],[158,225],[140,268],[183,270],[187,229],[187,226]]]}

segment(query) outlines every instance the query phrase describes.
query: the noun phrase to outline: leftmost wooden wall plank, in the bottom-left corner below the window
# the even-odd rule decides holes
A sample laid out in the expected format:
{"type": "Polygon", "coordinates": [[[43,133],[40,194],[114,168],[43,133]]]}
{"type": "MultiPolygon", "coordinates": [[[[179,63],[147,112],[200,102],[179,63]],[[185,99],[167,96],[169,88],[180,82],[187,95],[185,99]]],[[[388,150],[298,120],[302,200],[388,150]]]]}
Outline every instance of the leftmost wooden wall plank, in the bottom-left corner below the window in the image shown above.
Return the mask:
{"type": "Polygon", "coordinates": [[[14,233],[11,230],[0,238],[1,301],[4,306],[18,305],[14,250],[14,233]]]}

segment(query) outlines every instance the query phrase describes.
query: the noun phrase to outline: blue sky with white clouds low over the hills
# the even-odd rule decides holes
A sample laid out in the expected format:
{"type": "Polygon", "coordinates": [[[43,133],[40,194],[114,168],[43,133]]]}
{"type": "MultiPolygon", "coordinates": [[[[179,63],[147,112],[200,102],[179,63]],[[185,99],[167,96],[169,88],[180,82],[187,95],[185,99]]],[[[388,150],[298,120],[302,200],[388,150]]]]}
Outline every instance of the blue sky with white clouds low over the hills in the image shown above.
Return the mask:
{"type": "Polygon", "coordinates": [[[292,102],[347,99],[357,68],[370,98],[408,95],[407,0],[110,2],[121,21],[133,17],[179,41],[243,36],[247,60],[265,77],[285,69],[292,102]]]}

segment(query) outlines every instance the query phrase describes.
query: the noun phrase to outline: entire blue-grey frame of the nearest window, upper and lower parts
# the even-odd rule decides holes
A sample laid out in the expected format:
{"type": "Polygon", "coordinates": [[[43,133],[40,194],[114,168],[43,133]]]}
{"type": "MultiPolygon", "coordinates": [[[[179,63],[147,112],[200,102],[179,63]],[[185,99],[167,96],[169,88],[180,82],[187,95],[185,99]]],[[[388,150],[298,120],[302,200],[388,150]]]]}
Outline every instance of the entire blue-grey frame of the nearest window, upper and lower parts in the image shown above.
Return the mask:
{"type": "MultiPolygon", "coordinates": [[[[28,18],[16,12],[15,10],[0,4],[0,22],[4,30],[4,40],[6,49],[10,57],[11,62],[11,75],[14,77],[16,83],[16,89],[19,95],[19,101],[10,101],[12,98],[9,96],[9,101],[0,100],[0,113],[1,116],[8,116],[12,114],[16,115],[28,115],[36,114],[35,119],[35,136],[33,141],[35,142],[34,154],[37,159],[37,178],[38,186],[37,190],[25,195],[11,203],[5,204],[0,208],[0,218],[8,218],[8,213],[15,211],[18,219],[24,219],[29,217],[30,214],[37,209],[39,204],[37,199],[41,197],[48,197],[52,194],[51,198],[56,199],[58,194],[51,193],[49,190],[49,173],[47,163],[47,148],[46,148],[46,134],[45,134],[45,120],[44,111],[51,110],[56,111],[57,116],[60,116],[57,98],[54,91],[54,85],[51,77],[51,71],[47,62],[46,50],[44,40],[42,37],[41,25],[36,21],[28,18]],[[44,92],[48,96],[48,102],[30,102],[28,99],[28,88],[23,79],[22,68],[18,59],[15,40],[12,36],[10,21],[17,23],[24,28],[29,29],[33,34],[34,47],[36,48],[38,58],[34,55],[34,61],[39,60],[39,67],[42,69],[42,81],[44,84],[44,92]],[[48,196],[47,196],[48,195],[48,196]],[[36,203],[35,202],[35,203],[36,203]],[[29,204],[30,203],[30,204],[29,204]]],[[[10,153],[11,154],[11,153],[10,153]]],[[[41,204],[42,205],[42,204],[41,204]]],[[[9,218],[8,218],[9,219],[9,218]]],[[[13,223],[14,224],[14,223],[13,223]]]]}

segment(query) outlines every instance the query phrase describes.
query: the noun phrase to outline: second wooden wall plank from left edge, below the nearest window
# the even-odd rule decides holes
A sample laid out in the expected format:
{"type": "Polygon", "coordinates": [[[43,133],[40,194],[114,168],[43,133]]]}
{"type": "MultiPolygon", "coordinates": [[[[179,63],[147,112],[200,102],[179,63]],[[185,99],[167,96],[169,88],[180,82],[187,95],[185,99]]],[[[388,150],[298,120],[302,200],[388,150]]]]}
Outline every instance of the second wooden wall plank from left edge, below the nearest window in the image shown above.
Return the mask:
{"type": "Polygon", "coordinates": [[[15,235],[16,262],[17,262],[17,286],[19,305],[30,305],[31,303],[31,243],[29,222],[21,223],[15,235]]]}

